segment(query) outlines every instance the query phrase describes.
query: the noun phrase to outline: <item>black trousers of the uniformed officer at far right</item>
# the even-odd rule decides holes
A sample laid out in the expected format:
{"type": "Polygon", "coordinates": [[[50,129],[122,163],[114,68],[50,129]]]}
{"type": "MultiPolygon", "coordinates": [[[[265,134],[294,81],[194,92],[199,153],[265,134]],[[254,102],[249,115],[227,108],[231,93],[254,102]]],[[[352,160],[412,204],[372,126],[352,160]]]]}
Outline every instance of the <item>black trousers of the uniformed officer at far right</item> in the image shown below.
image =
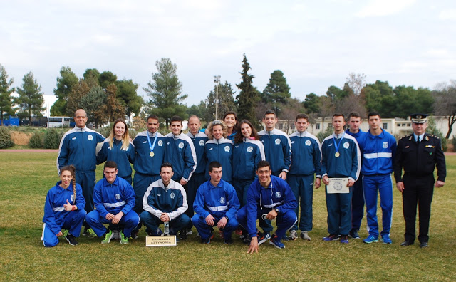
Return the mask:
{"type": "Polygon", "coordinates": [[[402,194],[404,219],[405,219],[405,240],[415,241],[415,219],[416,208],[420,219],[420,233],[418,240],[427,242],[429,236],[430,204],[434,194],[434,176],[416,176],[405,174],[403,177],[404,192],[402,194]]]}

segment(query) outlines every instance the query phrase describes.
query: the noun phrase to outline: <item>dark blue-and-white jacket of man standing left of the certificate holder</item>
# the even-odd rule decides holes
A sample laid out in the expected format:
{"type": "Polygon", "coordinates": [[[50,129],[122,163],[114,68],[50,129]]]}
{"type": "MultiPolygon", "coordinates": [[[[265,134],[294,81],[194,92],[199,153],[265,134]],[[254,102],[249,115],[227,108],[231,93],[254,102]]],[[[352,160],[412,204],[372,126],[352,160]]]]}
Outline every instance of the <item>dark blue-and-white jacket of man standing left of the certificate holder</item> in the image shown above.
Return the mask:
{"type": "Polygon", "coordinates": [[[321,145],[318,138],[304,131],[294,132],[291,140],[291,166],[289,174],[321,177],[321,145]]]}

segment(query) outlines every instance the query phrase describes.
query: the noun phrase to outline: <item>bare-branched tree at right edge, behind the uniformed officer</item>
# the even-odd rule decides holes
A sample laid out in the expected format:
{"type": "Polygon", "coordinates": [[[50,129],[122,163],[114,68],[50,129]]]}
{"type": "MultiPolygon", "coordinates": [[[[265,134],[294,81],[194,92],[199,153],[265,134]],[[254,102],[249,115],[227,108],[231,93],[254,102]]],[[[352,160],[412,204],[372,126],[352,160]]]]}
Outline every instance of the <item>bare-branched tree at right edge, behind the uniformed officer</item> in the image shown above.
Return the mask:
{"type": "Polygon", "coordinates": [[[448,131],[445,136],[450,138],[452,126],[456,122],[456,80],[450,80],[450,84],[440,83],[432,91],[434,96],[434,113],[447,117],[448,131]]]}

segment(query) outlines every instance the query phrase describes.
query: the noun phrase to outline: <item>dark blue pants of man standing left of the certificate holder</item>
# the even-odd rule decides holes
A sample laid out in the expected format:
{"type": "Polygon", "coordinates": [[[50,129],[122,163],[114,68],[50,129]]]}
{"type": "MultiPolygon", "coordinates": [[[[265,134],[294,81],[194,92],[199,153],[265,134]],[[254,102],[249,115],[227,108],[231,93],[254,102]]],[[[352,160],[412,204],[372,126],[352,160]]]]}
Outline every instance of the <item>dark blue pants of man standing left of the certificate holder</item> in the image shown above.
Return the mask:
{"type": "MultiPolygon", "coordinates": [[[[288,184],[293,191],[296,201],[301,207],[301,214],[299,219],[299,230],[311,231],[312,230],[312,202],[314,197],[314,175],[291,175],[286,177],[288,184]]],[[[299,207],[294,209],[296,216],[298,216],[299,207]]],[[[298,230],[298,223],[294,224],[291,230],[298,230]]]]}

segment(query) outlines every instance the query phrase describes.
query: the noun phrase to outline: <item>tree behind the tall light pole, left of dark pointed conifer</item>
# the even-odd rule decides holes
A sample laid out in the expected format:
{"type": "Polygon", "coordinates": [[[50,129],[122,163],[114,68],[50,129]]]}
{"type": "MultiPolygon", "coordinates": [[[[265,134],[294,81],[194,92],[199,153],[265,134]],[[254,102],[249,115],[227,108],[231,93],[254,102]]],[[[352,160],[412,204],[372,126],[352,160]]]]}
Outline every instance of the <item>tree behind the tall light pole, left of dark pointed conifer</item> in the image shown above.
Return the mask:
{"type": "MultiPolygon", "coordinates": [[[[207,122],[215,118],[215,100],[216,100],[216,86],[206,98],[206,113],[203,117],[207,122]]],[[[236,104],[234,103],[234,90],[227,81],[224,84],[219,84],[219,119],[222,118],[224,113],[229,110],[236,111],[236,104]]]]}

